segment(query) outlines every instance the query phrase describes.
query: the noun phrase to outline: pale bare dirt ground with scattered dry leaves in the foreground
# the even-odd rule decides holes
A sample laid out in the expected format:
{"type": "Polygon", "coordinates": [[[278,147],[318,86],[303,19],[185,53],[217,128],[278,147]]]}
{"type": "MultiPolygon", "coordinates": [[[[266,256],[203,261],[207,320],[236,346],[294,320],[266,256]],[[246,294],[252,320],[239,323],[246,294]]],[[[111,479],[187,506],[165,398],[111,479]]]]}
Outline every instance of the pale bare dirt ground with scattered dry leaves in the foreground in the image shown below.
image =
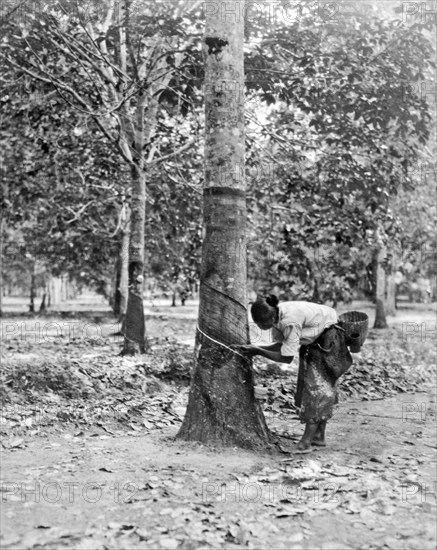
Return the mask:
{"type": "MultiPolygon", "coordinates": [[[[150,307],[149,334],[191,341],[195,309],[150,307]]],[[[429,329],[433,319],[433,310],[415,309],[395,323],[429,329]]],[[[269,427],[287,434],[284,452],[274,454],[183,443],[174,439],[177,423],[8,432],[1,547],[434,549],[434,382],[416,393],[343,400],[328,446],[300,456],[291,451],[301,424],[274,412],[269,427]]],[[[174,410],[183,413],[186,395],[174,410]]]]}

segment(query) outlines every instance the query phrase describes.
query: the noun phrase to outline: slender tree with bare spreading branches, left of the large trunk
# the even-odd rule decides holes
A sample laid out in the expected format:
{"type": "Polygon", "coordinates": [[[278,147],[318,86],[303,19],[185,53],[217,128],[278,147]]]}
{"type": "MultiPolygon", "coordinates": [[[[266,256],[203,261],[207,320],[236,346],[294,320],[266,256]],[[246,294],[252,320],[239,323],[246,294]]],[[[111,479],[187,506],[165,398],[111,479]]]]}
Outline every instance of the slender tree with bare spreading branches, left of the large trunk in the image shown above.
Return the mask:
{"type": "Polygon", "coordinates": [[[146,169],[147,163],[157,161],[160,96],[181,65],[181,48],[187,46],[182,8],[186,15],[196,4],[178,2],[171,18],[168,4],[160,2],[144,4],[135,14],[129,0],[50,5],[44,13],[29,14],[31,24],[20,27],[11,20],[13,31],[2,43],[2,57],[9,65],[51,85],[97,125],[130,169],[131,186],[125,189],[130,193],[130,240],[123,353],[145,350],[146,169]],[[162,20],[156,19],[159,12],[162,20]],[[158,29],[157,20],[162,22],[158,29]]]}

